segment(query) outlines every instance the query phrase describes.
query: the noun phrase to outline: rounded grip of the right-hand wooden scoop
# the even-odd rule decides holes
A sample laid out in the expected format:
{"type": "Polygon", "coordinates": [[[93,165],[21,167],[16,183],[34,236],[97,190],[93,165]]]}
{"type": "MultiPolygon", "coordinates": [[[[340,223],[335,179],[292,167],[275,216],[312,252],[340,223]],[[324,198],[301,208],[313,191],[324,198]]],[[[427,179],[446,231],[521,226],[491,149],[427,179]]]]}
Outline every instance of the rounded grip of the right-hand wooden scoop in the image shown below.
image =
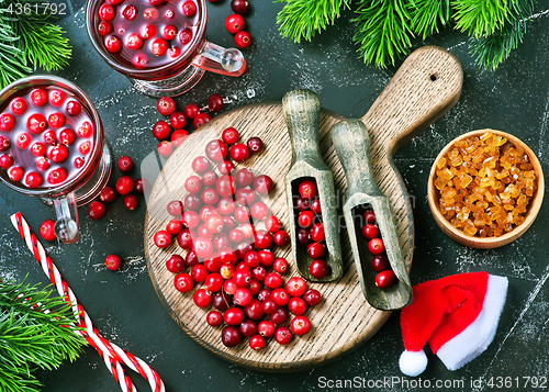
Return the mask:
{"type": "Polygon", "coordinates": [[[332,128],[332,143],[347,178],[347,197],[355,193],[383,195],[373,178],[370,136],[359,120],[345,120],[332,128]]]}

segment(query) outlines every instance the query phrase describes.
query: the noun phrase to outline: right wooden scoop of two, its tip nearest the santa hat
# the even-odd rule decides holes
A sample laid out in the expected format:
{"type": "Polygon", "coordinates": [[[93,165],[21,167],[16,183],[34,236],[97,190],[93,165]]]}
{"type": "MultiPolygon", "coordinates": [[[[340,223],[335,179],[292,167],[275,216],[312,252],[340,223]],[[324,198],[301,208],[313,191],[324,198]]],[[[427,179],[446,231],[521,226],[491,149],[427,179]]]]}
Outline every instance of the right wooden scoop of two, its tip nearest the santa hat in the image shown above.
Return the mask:
{"type": "Polygon", "coordinates": [[[389,198],[381,192],[373,178],[368,131],[359,120],[341,121],[332,128],[332,142],[347,179],[347,201],[343,211],[366,300],[373,307],[383,311],[404,307],[412,301],[412,285],[389,198]],[[366,205],[376,214],[389,264],[396,276],[395,283],[388,289],[380,289],[374,284],[378,272],[370,265],[372,255],[368,250],[368,239],[361,234],[366,222],[361,219],[360,211],[366,205]]]}

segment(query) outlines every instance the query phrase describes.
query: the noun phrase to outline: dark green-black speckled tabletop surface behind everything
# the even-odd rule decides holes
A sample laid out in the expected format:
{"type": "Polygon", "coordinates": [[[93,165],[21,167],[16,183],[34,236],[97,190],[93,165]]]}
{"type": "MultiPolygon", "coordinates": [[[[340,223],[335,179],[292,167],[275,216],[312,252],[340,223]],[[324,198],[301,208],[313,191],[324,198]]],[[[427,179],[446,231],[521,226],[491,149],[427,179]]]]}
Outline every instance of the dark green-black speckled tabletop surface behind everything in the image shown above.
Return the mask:
{"type": "MultiPolygon", "coordinates": [[[[318,93],[324,108],[358,117],[367,112],[402,63],[377,70],[357,59],[348,11],[312,43],[294,44],[280,37],[277,30],[276,15],[282,4],[270,0],[249,1],[246,27],[255,42],[244,51],[248,72],[237,79],[206,75],[191,92],[177,98],[180,108],[191,102],[203,105],[210,94],[221,93],[233,101],[224,109],[231,110],[246,103],[280,100],[288,90],[309,88],[318,93]]],[[[156,101],[132,90],[127,81],[94,53],[86,34],[83,10],[79,7],[81,1],[76,1],[75,14],[60,21],[72,45],[72,60],[57,75],[78,83],[93,100],[114,157],[130,155],[141,164],[157,144],[150,133],[152,125],[160,119],[155,110],[156,101]]],[[[233,37],[223,26],[231,13],[229,1],[208,3],[208,38],[231,46],[233,37]]],[[[467,131],[492,127],[518,136],[549,172],[549,1],[538,2],[535,12],[525,42],[493,72],[474,65],[468,55],[464,34],[450,30],[426,42],[414,42],[415,47],[439,45],[451,51],[461,61],[464,80],[457,105],[395,156],[415,201],[412,282],[480,270],[509,278],[507,303],[497,334],[483,355],[455,372],[429,355],[422,379],[464,380],[464,390],[471,390],[470,380],[480,377],[512,377],[513,385],[519,380],[524,387],[523,377],[549,376],[546,284],[549,204],[542,205],[534,225],[519,239],[500,249],[478,250],[446,237],[430,216],[426,201],[427,176],[434,158],[444,145],[467,131]]],[[[138,170],[132,175],[139,177],[138,170]]],[[[119,176],[115,169],[112,178],[119,176]]],[[[43,220],[53,217],[52,209],[38,199],[1,187],[0,211],[0,278],[19,282],[29,275],[29,283],[46,283],[47,278],[18,238],[9,216],[20,211],[37,231],[43,220]]],[[[397,312],[356,351],[310,371],[270,374],[242,369],[216,358],[177,326],[153,289],[143,250],[145,211],[143,199],[136,211],[128,212],[119,198],[108,206],[103,220],[92,222],[81,208],[81,239],[69,246],[46,244],[46,249],[103,336],[150,363],[168,391],[318,391],[322,390],[320,377],[378,380],[402,376],[397,367],[403,349],[397,312]],[[116,273],[108,271],[103,264],[104,257],[112,253],[124,261],[116,273]]],[[[119,390],[92,348],[87,348],[74,363],[37,374],[47,392],[119,390]]],[[[139,391],[149,390],[141,377],[132,378],[139,391]]],[[[394,390],[421,389],[395,385],[394,390]]]]}

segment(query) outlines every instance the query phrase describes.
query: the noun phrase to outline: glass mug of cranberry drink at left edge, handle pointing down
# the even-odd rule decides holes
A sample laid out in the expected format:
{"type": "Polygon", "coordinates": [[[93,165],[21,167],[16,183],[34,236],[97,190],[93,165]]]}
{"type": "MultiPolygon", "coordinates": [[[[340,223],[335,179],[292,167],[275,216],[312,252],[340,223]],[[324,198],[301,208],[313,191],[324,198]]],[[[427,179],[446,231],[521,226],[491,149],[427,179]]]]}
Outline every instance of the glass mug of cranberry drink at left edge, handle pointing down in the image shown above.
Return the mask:
{"type": "Polygon", "coordinates": [[[77,203],[96,198],[110,173],[101,119],[77,86],[32,76],[0,91],[0,180],[53,204],[64,243],[79,238],[77,203]]]}

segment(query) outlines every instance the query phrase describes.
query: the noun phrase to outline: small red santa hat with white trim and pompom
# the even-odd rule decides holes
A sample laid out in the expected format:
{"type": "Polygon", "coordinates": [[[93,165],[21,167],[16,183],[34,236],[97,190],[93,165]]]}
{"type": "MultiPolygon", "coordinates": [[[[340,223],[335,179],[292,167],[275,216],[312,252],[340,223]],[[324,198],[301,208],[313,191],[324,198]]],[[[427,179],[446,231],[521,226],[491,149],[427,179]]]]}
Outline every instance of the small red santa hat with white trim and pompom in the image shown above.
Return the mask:
{"type": "Polygon", "coordinates": [[[507,278],[486,272],[459,273],[413,288],[412,303],[401,312],[405,351],[399,365],[415,377],[427,367],[423,347],[448,370],[477,358],[492,343],[507,294],[507,278]]]}

